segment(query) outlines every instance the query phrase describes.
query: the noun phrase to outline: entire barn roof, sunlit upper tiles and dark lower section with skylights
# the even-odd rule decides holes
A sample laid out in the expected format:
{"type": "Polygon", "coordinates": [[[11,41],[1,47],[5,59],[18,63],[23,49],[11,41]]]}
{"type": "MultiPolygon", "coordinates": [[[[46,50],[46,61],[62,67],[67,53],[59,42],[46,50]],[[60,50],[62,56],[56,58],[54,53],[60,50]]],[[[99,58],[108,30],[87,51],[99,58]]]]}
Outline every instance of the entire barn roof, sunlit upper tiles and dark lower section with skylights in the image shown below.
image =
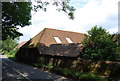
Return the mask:
{"type": "Polygon", "coordinates": [[[77,57],[82,51],[84,34],[45,28],[22,48],[37,48],[42,55],[77,57]]]}

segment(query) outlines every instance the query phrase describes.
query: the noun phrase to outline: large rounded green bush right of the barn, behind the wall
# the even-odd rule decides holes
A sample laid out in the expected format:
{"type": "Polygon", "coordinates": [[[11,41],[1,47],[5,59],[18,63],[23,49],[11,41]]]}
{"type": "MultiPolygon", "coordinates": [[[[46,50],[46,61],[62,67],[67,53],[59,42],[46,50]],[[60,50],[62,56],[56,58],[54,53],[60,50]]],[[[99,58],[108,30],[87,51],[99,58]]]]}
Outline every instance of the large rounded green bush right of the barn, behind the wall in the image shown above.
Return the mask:
{"type": "Polygon", "coordinates": [[[85,49],[81,57],[94,60],[115,60],[116,44],[109,32],[102,27],[94,26],[85,35],[85,49]]]}

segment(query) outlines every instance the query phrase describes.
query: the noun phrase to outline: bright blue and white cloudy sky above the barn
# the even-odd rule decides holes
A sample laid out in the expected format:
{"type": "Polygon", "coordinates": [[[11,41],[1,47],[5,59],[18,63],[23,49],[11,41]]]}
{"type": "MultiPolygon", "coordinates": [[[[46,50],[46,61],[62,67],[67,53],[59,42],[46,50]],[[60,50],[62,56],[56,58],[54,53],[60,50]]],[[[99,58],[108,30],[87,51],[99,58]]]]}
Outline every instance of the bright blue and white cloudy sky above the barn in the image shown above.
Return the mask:
{"type": "Polygon", "coordinates": [[[28,41],[44,28],[87,33],[93,26],[101,26],[111,34],[118,32],[118,2],[120,0],[70,0],[76,8],[75,19],[49,5],[47,11],[32,12],[32,25],[19,29],[23,33],[19,43],[28,41]]]}

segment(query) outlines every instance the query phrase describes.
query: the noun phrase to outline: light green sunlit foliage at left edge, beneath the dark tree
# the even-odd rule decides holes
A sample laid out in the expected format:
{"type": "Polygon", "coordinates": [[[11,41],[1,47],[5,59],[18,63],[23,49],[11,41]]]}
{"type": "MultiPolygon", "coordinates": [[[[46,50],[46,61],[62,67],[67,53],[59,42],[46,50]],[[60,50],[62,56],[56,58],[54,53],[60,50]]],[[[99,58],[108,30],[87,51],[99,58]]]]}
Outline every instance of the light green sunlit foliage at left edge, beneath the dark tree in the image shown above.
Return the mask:
{"type": "Polygon", "coordinates": [[[2,41],[2,50],[7,52],[13,50],[18,45],[17,40],[18,39],[13,40],[9,37],[8,39],[2,41]]]}

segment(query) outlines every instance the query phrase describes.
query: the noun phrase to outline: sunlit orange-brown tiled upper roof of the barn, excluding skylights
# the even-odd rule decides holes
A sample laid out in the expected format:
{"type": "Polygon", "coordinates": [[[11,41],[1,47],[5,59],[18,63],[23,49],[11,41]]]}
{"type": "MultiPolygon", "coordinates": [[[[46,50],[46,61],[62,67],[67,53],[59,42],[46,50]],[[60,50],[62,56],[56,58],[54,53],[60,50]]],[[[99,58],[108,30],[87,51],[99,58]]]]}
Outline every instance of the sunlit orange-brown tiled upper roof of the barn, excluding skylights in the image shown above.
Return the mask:
{"type": "Polygon", "coordinates": [[[38,33],[35,37],[29,40],[24,47],[36,46],[38,43],[44,43],[46,46],[51,44],[58,44],[54,37],[58,37],[62,44],[68,44],[66,38],[70,38],[73,43],[81,43],[84,39],[83,33],[63,31],[52,28],[45,28],[43,31],[38,33]]]}

